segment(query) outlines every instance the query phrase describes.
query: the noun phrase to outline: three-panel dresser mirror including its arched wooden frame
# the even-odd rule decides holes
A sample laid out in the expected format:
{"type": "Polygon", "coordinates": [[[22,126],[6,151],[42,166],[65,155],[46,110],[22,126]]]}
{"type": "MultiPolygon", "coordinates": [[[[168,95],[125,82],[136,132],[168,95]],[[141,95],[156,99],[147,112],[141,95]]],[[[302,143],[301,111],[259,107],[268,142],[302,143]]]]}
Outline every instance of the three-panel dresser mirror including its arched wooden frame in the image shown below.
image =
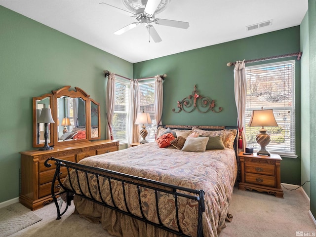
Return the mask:
{"type": "Polygon", "coordinates": [[[55,123],[48,126],[49,146],[63,146],[100,139],[100,105],[84,90],[64,86],[52,94],[33,98],[33,146],[45,142],[42,123],[37,123],[42,108],[51,108],[55,123]],[[47,107],[48,106],[48,107],[47,107]]]}

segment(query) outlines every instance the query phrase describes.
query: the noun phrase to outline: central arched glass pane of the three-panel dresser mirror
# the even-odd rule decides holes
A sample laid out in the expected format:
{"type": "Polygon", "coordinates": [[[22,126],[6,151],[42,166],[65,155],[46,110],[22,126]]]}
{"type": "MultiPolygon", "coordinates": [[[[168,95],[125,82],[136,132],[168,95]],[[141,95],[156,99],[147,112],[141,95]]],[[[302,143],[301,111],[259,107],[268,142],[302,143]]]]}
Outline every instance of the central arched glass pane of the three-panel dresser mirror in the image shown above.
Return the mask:
{"type": "Polygon", "coordinates": [[[86,139],[85,107],[82,98],[57,98],[58,142],[86,139]]]}

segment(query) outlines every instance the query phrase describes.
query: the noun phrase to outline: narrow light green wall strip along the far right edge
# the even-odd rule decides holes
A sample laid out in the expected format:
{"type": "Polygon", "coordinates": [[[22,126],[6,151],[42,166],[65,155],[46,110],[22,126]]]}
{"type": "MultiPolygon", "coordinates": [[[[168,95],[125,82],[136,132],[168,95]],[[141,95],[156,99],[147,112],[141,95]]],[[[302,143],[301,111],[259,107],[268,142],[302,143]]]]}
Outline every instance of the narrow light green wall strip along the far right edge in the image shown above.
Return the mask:
{"type": "Polygon", "coordinates": [[[311,206],[310,210],[316,217],[316,0],[308,1],[309,21],[309,72],[310,72],[310,176],[311,206]]]}

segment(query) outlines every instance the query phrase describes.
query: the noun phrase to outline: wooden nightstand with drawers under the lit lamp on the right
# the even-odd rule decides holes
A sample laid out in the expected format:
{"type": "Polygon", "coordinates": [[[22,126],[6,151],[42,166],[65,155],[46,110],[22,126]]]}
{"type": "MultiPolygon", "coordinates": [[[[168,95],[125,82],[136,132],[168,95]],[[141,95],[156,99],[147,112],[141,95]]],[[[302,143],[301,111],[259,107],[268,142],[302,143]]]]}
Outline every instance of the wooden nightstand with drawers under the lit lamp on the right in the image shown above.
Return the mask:
{"type": "Polygon", "coordinates": [[[260,156],[256,153],[243,155],[239,153],[241,182],[240,190],[256,190],[258,192],[268,192],[276,197],[283,198],[280,178],[279,155],[271,154],[260,156]]]}

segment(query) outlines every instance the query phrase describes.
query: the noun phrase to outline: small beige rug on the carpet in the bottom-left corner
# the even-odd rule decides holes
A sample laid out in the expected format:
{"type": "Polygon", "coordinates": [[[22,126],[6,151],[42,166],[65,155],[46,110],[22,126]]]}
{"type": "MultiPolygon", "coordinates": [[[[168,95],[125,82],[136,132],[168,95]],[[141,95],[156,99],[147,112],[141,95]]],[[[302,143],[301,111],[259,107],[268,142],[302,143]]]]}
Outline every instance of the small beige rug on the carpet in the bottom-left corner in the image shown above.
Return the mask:
{"type": "Polygon", "coordinates": [[[40,218],[20,203],[14,203],[0,209],[0,237],[10,236],[37,222],[40,218]]]}

